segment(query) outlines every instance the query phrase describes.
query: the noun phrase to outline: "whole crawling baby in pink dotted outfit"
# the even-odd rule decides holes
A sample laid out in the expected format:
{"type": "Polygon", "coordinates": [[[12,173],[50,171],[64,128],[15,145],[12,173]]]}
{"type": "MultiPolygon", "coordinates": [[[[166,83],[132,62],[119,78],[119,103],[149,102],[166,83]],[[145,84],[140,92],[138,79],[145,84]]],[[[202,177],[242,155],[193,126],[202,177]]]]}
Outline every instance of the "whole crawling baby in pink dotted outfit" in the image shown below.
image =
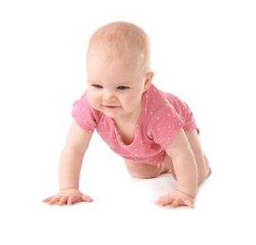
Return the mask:
{"type": "Polygon", "coordinates": [[[132,177],[172,173],[177,189],[156,204],[193,207],[196,190],[211,169],[189,106],[152,83],[145,31],[127,22],[103,25],[89,41],[86,68],[87,90],[74,103],[74,122],[60,156],[60,192],[43,202],[93,202],[79,190],[79,173],[96,129],[124,158],[132,177]]]}

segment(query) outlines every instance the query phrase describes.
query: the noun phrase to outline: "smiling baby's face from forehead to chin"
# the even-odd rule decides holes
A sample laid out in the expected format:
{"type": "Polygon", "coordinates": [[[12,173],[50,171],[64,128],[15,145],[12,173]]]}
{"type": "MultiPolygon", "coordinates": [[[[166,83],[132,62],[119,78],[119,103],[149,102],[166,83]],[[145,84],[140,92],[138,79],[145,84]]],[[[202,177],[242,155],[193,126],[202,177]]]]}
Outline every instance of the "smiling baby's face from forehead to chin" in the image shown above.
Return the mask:
{"type": "Polygon", "coordinates": [[[91,106],[111,118],[128,117],[139,112],[142,95],[151,81],[141,67],[132,54],[114,60],[89,55],[87,95],[91,106]]]}

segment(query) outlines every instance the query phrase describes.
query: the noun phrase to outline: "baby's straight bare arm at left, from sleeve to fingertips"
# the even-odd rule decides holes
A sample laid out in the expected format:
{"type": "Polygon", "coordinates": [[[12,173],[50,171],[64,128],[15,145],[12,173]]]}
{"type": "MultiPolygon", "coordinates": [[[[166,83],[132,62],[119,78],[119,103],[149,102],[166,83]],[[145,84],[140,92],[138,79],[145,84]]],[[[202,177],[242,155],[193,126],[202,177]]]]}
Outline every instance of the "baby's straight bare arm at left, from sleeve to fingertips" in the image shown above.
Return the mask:
{"type": "Polygon", "coordinates": [[[43,200],[48,204],[74,204],[76,202],[93,202],[89,196],[79,189],[79,176],[83,156],[89,146],[92,134],[80,128],[77,122],[72,122],[60,155],[60,192],[43,200]]]}

